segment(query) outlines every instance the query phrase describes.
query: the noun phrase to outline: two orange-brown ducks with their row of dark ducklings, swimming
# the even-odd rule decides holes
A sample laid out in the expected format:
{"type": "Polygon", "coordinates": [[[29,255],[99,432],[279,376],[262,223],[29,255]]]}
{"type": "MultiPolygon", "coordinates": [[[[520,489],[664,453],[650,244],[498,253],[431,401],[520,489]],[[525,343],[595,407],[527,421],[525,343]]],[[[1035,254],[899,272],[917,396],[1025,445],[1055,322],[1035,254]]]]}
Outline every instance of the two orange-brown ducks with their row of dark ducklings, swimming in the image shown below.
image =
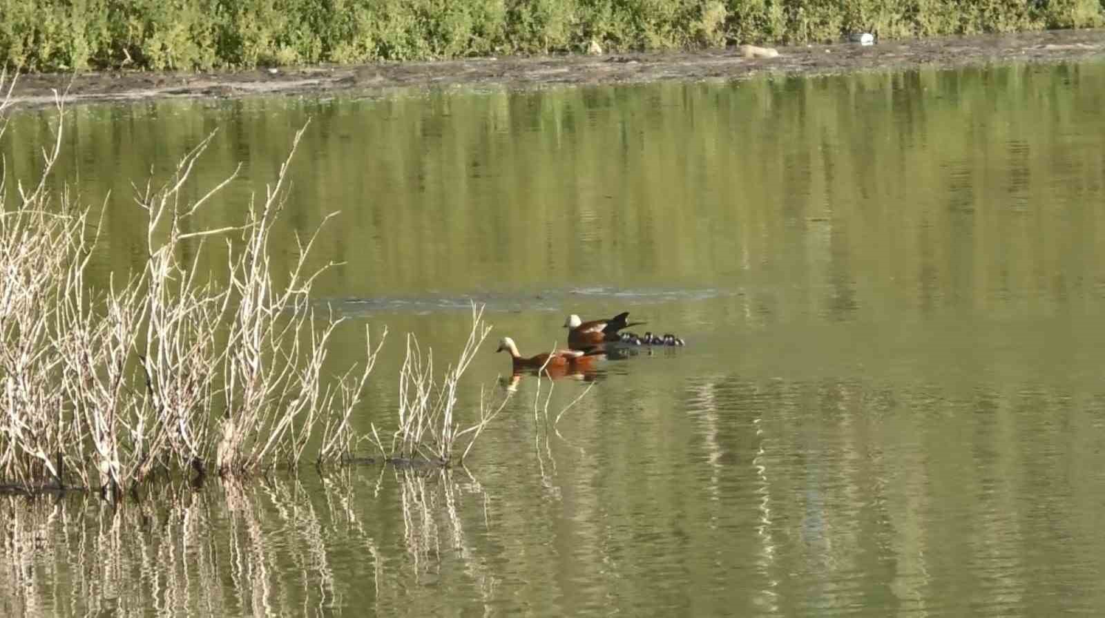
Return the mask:
{"type": "Polygon", "coordinates": [[[645,332],[643,337],[629,331],[622,333],[624,328],[644,324],[644,322],[628,322],[628,318],[629,312],[623,312],[607,320],[583,322],[578,315],[572,314],[564,323],[564,327],[568,328],[569,349],[555,349],[524,357],[518,353],[514,339],[503,337],[495,352],[508,352],[516,373],[543,368],[546,371],[578,373],[590,369],[591,364],[607,353],[608,345],[682,346],[686,343],[671,333],[662,337],[651,332],[645,332]]]}

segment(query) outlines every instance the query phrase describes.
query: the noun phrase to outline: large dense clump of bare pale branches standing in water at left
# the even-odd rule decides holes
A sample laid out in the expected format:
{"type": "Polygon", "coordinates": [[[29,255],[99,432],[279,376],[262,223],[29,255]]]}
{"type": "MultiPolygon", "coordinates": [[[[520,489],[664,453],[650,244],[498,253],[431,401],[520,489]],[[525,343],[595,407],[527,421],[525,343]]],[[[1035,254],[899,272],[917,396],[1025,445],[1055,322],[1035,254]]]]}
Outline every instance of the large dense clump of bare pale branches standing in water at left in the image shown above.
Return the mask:
{"type": "MultiPolygon", "coordinates": [[[[145,264],[96,290],[85,279],[99,238],[91,209],[49,189],[61,96],[56,109],[39,181],[20,184],[9,203],[0,175],[0,481],[62,488],[76,480],[118,494],[159,469],[203,474],[213,463],[220,474],[246,474],[296,464],[319,430],[316,462],[349,452],[359,440],[350,417],[382,337],[373,348],[366,332],[364,362],[330,379],[324,365],[340,318],[319,315],[309,301],[326,268],[307,266],[317,232],[297,239],[290,273],[275,276],[270,261],[304,129],[241,226],[188,231],[238,174],[186,199],[213,134],[166,184],[135,187],[146,214],[145,264]],[[199,268],[211,239],[227,244],[221,280],[199,268]]],[[[0,118],[0,136],[4,126],[0,118]]]]}

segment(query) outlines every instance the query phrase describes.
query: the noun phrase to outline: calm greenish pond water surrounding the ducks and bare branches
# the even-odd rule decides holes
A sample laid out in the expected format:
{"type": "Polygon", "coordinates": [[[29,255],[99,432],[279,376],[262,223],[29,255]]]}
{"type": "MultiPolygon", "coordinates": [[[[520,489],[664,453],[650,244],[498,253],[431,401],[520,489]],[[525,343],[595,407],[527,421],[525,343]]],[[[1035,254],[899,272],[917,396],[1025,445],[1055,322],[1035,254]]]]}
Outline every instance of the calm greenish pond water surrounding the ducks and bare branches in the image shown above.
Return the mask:
{"type": "MultiPolygon", "coordinates": [[[[73,108],[102,281],[139,263],[131,180],[218,128],[193,190],[243,161],[202,223],[233,222],[311,118],[277,260],[341,211],[335,366],[392,332],[361,429],[393,422],[402,333],[453,356],[470,298],[524,354],[569,313],[688,345],[547,411],[523,379],[467,471],[3,499],[0,611],[1101,615],[1102,109],[1101,63],[73,108]]],[[[11,177],[51,126],[13,119],[11,177]]]]}

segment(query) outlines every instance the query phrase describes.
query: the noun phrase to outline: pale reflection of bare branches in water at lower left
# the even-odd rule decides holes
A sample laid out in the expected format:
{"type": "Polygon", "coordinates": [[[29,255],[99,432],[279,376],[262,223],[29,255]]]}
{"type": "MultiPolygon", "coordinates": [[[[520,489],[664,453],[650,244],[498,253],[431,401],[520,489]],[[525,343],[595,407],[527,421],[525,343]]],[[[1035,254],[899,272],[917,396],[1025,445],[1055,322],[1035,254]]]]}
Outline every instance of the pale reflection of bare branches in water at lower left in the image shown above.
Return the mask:
{"type": "Polygon", "coordinates": [[[427,575],[441,576],[445,562],[490,603],[499,579],[464,525],[487,525],[481,483],[463,469],[376,470],[218,481],[199,490],[164,484],[119,505],[88,494],[0,497],[0,615],[380,609],[394,607],[427,575]],[[401,534],[399,517],[372,521],[379,497],[400,503],[380,512],[401,512],[401,534]],[[394,530],[390,538],[401,538],[407,559],[401,549],[381,551],[370,530],[394,530]]]}

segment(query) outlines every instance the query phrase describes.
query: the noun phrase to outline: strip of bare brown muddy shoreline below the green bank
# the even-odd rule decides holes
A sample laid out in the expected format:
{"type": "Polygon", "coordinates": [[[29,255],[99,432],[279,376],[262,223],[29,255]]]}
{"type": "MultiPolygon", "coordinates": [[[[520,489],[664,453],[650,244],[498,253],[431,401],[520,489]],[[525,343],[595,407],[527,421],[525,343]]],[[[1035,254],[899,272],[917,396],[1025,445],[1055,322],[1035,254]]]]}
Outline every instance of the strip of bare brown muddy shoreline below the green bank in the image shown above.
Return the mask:
{"type": "Polygon", "coordinates": [[[423,63],[323,65],[227,73],[104,71],[21,75],[14,107],[53,103],[70,81],[73,103],[243,97],[271,94],[379,95],[396,88],[456,85],[533,88],[556,84],[620,84],[662,80],[738,80],[766,72],[822,75],[920,66],[1066,62],[1105,57],[1105,30],[934,38],[777,48],[774,59],[745,59],[736,48],[699,52],[485,57],[423,63]]]}

